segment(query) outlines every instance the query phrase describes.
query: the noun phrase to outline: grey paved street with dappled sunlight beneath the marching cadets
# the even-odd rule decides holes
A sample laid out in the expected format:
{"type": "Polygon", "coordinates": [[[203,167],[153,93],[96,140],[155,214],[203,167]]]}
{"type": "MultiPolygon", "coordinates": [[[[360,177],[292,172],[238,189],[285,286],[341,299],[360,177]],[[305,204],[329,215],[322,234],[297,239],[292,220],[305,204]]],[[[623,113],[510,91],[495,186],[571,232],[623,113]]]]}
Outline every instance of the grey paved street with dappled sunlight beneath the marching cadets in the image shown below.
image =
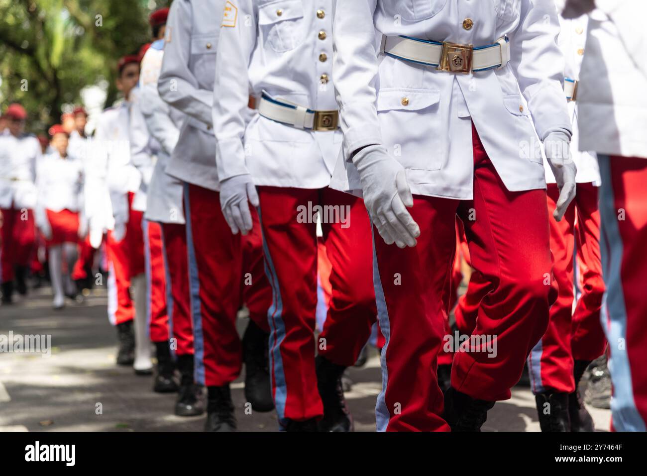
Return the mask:
{"type": "MultiPolygon", "coordinates": [[[[49,289],[43,288],[12,307],[0,307],[0,336],[10,331],[52,336],[49,357],[0,354],[0,431],[201,431],[203,416],[173,415],[175,396],[155,394],[151,377],[116,367],[115,330],[106,317],[104,290],[63,311],[53,311],[50,303],[49,289]]],[[[239,330],[246,324],[239,319],[239,330]]],[[[350,376],[354,385],[347,398],[356,431],[374,431],[381,385],[377,352],[350,376]]],[[[245,415],[242,379],[232,388],[239,429],[277,430],[273,412],[245,415]]],[[[610,412],[589,410],[598,429],[608,429],[610,412]]],[[[538,431],[529,389],[516,387],[511,400],[496,404],[483,429],[538,431]]]]}

